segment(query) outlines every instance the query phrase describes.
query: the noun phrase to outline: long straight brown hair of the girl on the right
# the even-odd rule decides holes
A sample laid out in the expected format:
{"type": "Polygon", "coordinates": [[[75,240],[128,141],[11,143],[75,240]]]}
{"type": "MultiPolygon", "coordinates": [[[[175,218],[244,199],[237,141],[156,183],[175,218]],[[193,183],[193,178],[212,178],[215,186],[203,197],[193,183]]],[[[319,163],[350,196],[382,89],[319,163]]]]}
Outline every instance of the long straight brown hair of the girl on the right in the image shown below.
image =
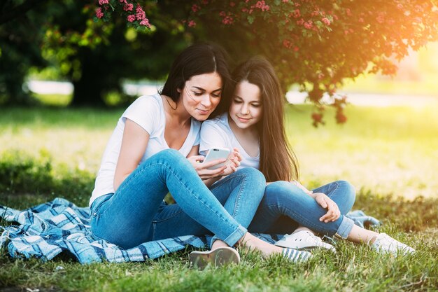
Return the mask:
{"type": "Polygon", "coordinates": [[[240,64],[232,78],[234,86],[248,81],[260,88],[262,119],[256,125],[260,137],[260,172],[267,181],[298,179],[297,157],[285,134],[285,99],[274,67],[261,57],[253,57],[240,64]]]}

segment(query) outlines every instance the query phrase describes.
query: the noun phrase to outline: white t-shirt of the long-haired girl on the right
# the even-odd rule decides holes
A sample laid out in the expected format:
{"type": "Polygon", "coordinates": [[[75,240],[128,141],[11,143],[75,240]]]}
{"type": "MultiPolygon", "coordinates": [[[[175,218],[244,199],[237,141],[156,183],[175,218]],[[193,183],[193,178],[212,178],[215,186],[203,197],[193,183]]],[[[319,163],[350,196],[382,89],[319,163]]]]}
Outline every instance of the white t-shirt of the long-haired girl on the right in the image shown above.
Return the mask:
{"type": "Polygon", "coordinates": [[[210,148],[229,148],[230,151],[232,151],[233,148],[238,148],[242,155],[242,161],[237,169],[243,167],[259,168],[260,148],[259,153],[255,157],[246,153],[229,127],[228,113],[222,113],[222,115],[202,123],[199,153],[205,155],[206,151],[210,148]]]}

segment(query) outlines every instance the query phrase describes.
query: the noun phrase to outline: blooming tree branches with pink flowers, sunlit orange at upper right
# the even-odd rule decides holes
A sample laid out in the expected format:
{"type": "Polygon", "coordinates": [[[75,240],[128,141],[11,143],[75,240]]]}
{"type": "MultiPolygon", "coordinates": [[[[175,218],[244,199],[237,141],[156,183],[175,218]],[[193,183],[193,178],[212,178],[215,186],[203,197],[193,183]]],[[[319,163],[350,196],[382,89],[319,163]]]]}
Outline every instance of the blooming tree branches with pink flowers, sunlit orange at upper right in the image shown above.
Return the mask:
{"type": "MultiPolygon", "coordinates": [[[[106,7],[108,1],[114,10],[115,3],[124,11],[129,5],[126,0],[99,0],[99,5],[106,7]]],[[[337,109],[337,122],[344,123],[346,97],[336,92],[345,78],[394,74],[393,60],[401,60],[409,48],[418,50],[436,40],[438,32],[437,0],[191,2],[185,25],[196,31],[214,22],[215,29],[226,30],[227,38],[240,42],[242,50],[271,60],[285,87],[299,84],[316,104],[313,125],[324,123],[324,93],[331,97],[328,105],[337,109]]],[[[127,19],[131,20],[141,24],[144,18],[135,15],[127,19]]],[[[221,43],[218,34],[206,35],[221,43]]]]}

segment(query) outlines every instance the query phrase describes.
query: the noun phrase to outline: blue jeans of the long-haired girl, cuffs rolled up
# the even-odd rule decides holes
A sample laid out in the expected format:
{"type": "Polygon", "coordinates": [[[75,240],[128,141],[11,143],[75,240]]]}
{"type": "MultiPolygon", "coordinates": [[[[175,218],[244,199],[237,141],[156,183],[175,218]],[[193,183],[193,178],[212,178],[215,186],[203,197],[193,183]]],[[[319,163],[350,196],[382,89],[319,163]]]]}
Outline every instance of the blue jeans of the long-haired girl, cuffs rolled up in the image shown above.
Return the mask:
{"type": "Polygon", "coordinates": [[[327,213],[313,197],[288,181],[270,183],[257,209],[250,232],[291,233],[298,225],[303,225],[323,235],[346,239],[353,228],[353,221],[344,216],[353,207],[355,190],[347,181],[334,181],[316,188],[313,193],[325,193],[339,207],[341,216],[333,222],[320,222],[327,213]]]}

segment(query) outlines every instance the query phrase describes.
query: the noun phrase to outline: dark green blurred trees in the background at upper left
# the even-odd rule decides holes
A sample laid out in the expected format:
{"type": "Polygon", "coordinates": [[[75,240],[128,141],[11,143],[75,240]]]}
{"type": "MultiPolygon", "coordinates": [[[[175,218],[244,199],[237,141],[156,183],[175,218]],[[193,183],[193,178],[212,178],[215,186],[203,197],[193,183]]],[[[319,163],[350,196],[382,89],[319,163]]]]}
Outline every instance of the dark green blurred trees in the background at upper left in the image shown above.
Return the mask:
{"type": "MultiPolygon", "coordinates": [[[[6,2],[18,7],[19,2],[29,1],[6,2]]],[[[123,94],[121,81],[165,78],[174,56],[192,39],[177,20],[187,15],[167,13],[172,11],[171,1],[152,4],[148,13],[154,15],[155,22],[150,30],[127,27],[125,20],[117,18],[106,24],[93,22],[94,1],[72,0],[46,1],[1,25],[0,103],[23,104],[26,97],[30,100],[28,92],[22,90],[23,81],[29,71],[35,75],[43,67],[49,68],[45,75],[73,83],[73,106],[103,106],[106,95],[114,92],[120,96],[119,103],[130,102],[134,97],[123,94]],[[11,48],[14,36],[22,41],[11,48]]]]}

